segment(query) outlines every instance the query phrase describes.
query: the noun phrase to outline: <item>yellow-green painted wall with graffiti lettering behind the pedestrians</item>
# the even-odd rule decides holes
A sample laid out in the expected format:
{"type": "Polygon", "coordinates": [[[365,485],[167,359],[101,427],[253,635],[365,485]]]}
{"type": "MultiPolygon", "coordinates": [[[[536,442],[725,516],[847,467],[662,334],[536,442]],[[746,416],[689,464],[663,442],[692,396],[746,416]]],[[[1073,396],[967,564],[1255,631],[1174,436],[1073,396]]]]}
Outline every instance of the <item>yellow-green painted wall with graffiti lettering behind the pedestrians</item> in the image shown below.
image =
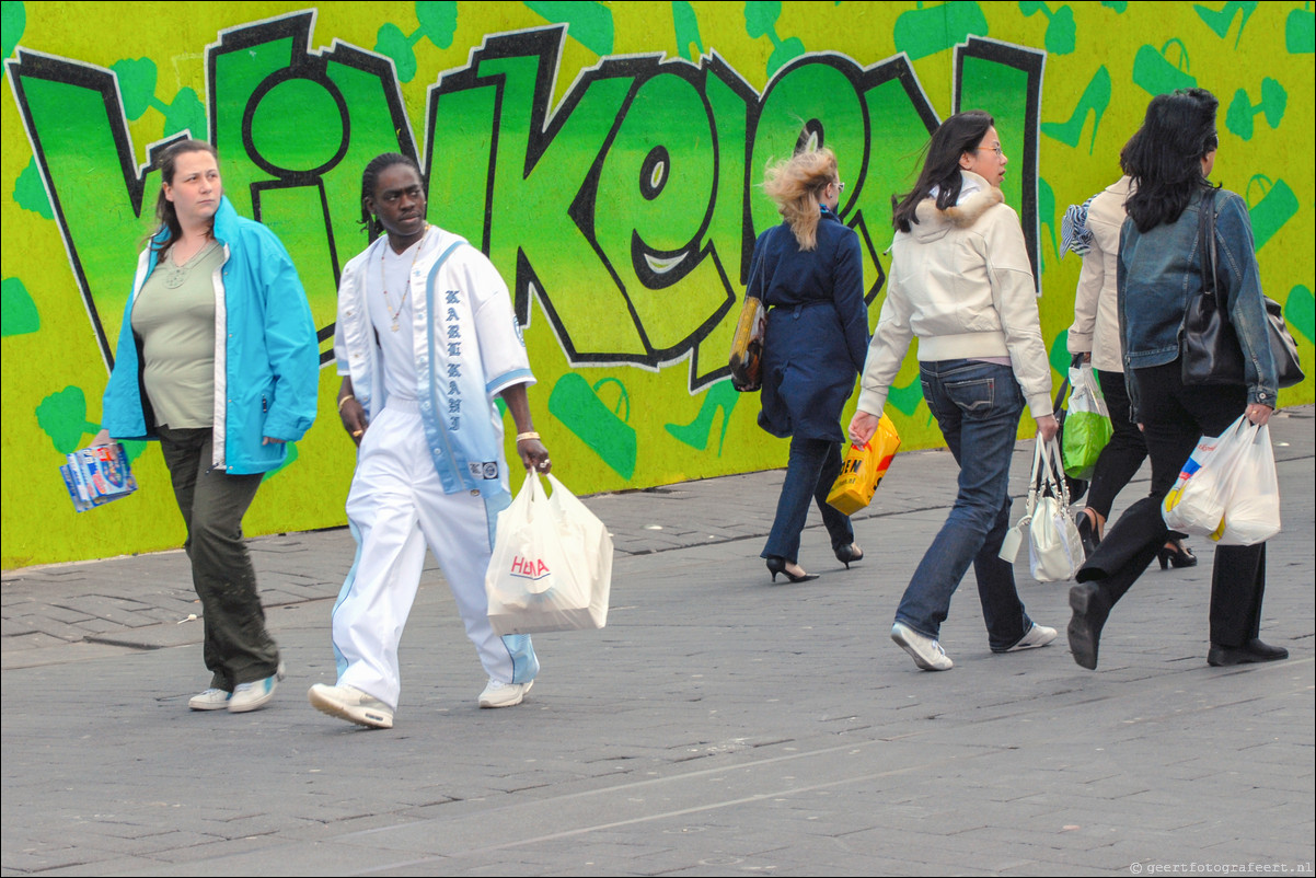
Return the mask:
{"type": "MultiPolygon", "coordinates": [[[[100,426],[153,155],[191,133],[240,213],[292,254],[322,345],[320,419],[267,475],[249,533],[333,527],[354,453],[334,412],[334,296],[361,251],[361,174],[416,157],[429,219],[490,255],[538,378],[532,405],[578,492],[784,465],[726,354],[758,183],[836,150],[870,324],[904,192],[940,118],[992,112],[1057,370],[1076,257],[1059,221],[1119,176],[1148,100],[1221,103],[1213,179],[1248,199],[1262,279],[1313,357],[1311,3],[21,3],[5,0],[4,567],[178,546],[159,450],[141,490],[75,513],[57,467],[100,426]]],[[[1311,373],[1311,370],[1308,370],[1311,373]]],[[[1061,373],[1057,371],[1057,382],[1061,373]]],[[[1312,400],[1312,380],[1283,404],[1312,400]]],[[[888,412],[940,441],[913,355],[888,412]]],[[[849,417],[849,412],[846,413],[849,417]]],[[[1021,436],[1030,432],[1025,419],[1021,436]]],[[[948,458],[949,462],[949,458],[948,458]]]]}

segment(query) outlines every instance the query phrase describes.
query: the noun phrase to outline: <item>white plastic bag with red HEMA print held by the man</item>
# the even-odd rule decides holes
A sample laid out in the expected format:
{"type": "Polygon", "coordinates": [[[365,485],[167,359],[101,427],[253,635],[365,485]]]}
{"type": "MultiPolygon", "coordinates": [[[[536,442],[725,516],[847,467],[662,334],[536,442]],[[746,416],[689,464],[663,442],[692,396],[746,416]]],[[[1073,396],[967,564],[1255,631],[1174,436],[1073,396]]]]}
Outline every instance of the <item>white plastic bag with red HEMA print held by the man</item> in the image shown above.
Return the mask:
{"type": "Polygon", "coordinates": [[[603,628],[612,586],[608,529],[555,477],[538,473],[499,515],[484,575],[490,624],[497,634],[603,628]]]}

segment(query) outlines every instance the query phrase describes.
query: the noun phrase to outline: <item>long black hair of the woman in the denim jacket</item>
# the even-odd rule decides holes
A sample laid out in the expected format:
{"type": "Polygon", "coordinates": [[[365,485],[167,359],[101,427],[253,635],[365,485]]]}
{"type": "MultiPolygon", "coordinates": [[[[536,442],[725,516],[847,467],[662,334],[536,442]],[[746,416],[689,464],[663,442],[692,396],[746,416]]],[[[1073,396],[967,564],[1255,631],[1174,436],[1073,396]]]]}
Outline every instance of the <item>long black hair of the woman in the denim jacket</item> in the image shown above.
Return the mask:
{"type": "Polygon", "coordinates": [[[1125,172],[1137,186],[1124,207],[1138,232],[1174,222],[1195,192],[1211,187],[1202,175],[1202,159],[1220,145],[1219,107],[1205,88],[1180,88],[1173,95],[1157,95],[1148,104],[1142,128],[1121,155],[1125,172]]]}

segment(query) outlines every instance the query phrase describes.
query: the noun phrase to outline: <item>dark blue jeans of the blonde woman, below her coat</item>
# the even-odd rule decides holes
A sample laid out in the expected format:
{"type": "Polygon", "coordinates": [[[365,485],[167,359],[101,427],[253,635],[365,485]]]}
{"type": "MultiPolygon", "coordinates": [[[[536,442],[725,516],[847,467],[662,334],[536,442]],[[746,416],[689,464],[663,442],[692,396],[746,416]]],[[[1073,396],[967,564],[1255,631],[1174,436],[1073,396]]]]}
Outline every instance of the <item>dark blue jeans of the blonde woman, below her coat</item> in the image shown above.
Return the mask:
{"type": "Polygon", "coordinates": [[[822,524],[832,537],[832,550],[854,542],[850,517],[826,502],[836,477],[841,474],[841,446],[828,440],[791,438],[791,459],[786,465],[776,517],[767,534],[761,558],[786,558],[795,563],[800,557],[800,532],[809,515],[809,498],[819,504],[822,524]]]}

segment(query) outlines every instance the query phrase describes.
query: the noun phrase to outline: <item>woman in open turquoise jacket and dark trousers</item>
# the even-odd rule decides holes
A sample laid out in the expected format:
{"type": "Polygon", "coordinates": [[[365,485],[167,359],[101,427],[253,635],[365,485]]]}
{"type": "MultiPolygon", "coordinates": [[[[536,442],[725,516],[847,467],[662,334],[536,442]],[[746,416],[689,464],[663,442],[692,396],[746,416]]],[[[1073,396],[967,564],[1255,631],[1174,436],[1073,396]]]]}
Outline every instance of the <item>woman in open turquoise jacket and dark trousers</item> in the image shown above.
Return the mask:
{"type": "Polygon", "coordinates": [[[211,683],[188,706],[245,712],[272,698],[283,665],[242,516],[315,420],[320,344],[287,250],[224,197],[215,147],[170,146],[161,180],[97,442],[159,440],[205,620],[211,683]]]}

